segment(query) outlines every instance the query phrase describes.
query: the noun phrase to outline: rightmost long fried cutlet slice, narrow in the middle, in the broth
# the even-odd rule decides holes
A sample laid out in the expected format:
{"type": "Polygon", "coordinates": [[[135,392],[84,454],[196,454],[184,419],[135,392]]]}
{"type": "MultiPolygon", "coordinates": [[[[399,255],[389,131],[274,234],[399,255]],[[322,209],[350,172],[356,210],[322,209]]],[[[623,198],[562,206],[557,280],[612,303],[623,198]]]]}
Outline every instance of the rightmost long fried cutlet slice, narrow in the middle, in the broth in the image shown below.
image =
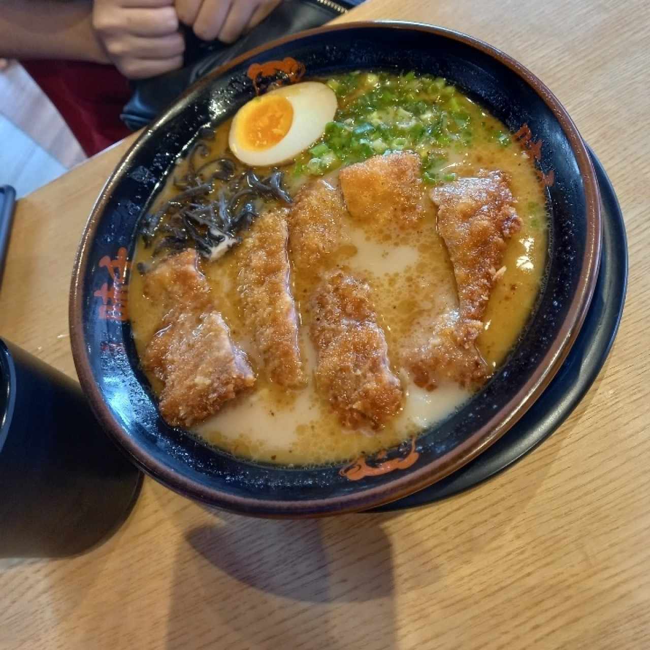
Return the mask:
{"type": "Polygon", "coordinates": [[[490,369],[476,348],[487,301],[506,250],[521,227],[503,172],[479,172],[431,190],[437,227],[454,268],[460,309],[420,324],[403,355],[413,381],[428,390],[441,379],[464,387],[481,385],[490,369]]]}

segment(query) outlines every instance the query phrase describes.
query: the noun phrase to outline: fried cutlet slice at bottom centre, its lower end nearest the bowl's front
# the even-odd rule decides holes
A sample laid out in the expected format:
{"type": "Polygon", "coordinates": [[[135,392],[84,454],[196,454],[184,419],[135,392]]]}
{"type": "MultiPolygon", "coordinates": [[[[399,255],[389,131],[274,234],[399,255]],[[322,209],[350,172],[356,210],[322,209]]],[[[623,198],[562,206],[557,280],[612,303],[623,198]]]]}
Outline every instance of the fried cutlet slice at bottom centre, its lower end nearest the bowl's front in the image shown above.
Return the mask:
{"type": "Polygon", "coordinates": [[[367,283],[341,270],[311,300],[311,337],[318,352],[316,381],[343,426],[380,428],[402,406],[383,331],[367,283]]]}

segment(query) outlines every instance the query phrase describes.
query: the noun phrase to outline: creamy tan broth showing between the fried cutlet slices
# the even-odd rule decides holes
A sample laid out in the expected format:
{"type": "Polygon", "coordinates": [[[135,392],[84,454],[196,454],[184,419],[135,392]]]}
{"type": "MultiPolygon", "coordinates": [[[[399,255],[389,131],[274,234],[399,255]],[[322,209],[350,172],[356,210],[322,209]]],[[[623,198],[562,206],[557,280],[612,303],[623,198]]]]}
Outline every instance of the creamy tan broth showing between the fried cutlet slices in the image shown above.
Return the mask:
{"type": "MultiPolygon", "coordinates": [[[[517,200],[522,227],[508,242],[503,265],[505,272],[497,281],[484,318],[484,331],[477,346],[487,363],[496,368],[512,349],[536,300],[545,266],[547,250],[547,215],[545,195],[536,170],[526,152],[512,140],[503,142],[494,133],[504,133],[503,125],[469,99],[460,96],[463,110],[476,125],[471,146],[449,146],[441,174],[462,176],[479,170],[502,170],[510,175],[510,188],[517,200]]],[[[230,123],[216,129],[213,138],[204,140],[209,157],[227,152],[230,123]]],[[[287,187],[294,194],[308,180],[303,173],[304,161],[286,168],[287,187]]],[[[181,160],[174,171],[181,177],[187,161],[181,160]]],[[[335,181],[337,170],[327,172],[335,181]]],[[[157,197],[156,205],[174,196],[171,183],[157,197]]],[[[215,196],[216,198],[216,196],[215,196]]],[[[154,206],[155,207],[155,206],[154,206]]],[[[389,359],[395,363],[400,340],[408,336],[413,322],[422,314],[439,314],[458,306],[458,292],[445,244],[435,225],[435,209],[430,209],[417,230],[397,227],[379,229],[362,225],[349,216],[343,227],[343,242],[331,255],[330,268],[337,266],[360,272],[372,288],[378,324],[385,333],[389,359]]],[[[246,232],[239,233],[245,238],[246,232]]],[[[138,241],[135,263],[149,265],[153,246],[145,248],[138,241]]],[[[248,354],[253,369],[260,359],[252,336],[242,319],[237,272],[245,260],[240,246],[220,259],[201,261],[201,270],[209,280],[214,304],[222,313],[231,337],[248,354]]],[[[193,428],[207,442],[243,458],[272,463],[313,465],[356,458],[393,447],[419,434],[426,426],[444,419],[458,409],[471,391],[452,382],[443,382],[434,391],[415,386],[408,373],[393,366],[402,380],[404,406],[396,417],[378,431],[342,428],[328,402],[315,389],[313,370],[316,354],[309,339],[309,306],[318,281],[313,277],[292,274],[292,289],[300,318],[300,346],[309,382],[304,389],[287,391],[268,382],[259,373],[255,387],[225,404],[213,417],[193,428]]],[[[159,328],[162,307],[146,298],[144,279],[134,272],[129,292],[131,326],[138,354],[142,356],[151,337],[159,328]]],[[[161,384],[149,376],[154,391],[161,384]]]]}

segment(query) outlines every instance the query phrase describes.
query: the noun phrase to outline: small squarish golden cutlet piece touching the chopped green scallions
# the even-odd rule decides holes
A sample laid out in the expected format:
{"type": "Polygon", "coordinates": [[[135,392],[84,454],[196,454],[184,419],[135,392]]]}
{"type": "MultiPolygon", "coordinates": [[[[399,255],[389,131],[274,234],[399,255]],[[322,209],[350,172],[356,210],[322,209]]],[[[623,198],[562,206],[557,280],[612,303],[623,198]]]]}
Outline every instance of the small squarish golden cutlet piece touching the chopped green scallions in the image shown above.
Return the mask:
{"type": "Polygon", "coordinates": [[[417,153],[398,151],[343,168],[339,181],[352,217],[417,227],[425,213],[420,162],[417,153]]]}

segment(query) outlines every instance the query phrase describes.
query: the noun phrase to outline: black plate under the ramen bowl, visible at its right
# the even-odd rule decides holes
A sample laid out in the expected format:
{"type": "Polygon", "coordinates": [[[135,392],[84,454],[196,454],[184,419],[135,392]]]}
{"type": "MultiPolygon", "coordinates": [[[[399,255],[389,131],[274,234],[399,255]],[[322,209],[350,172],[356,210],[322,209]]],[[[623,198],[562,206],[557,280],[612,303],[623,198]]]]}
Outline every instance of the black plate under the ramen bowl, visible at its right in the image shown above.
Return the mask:
{"type": "Polygon", "coordinates": [[[595,381],[614,343],[627,288],[627,239],[610,179],[590,149],[601,190],[603,253],[584,324],[562,368],[532,407],[503,437],[443,480],[367,512],[405,510],[447,499],[504,471],[541,445],[564,422],[595,381]]]}

